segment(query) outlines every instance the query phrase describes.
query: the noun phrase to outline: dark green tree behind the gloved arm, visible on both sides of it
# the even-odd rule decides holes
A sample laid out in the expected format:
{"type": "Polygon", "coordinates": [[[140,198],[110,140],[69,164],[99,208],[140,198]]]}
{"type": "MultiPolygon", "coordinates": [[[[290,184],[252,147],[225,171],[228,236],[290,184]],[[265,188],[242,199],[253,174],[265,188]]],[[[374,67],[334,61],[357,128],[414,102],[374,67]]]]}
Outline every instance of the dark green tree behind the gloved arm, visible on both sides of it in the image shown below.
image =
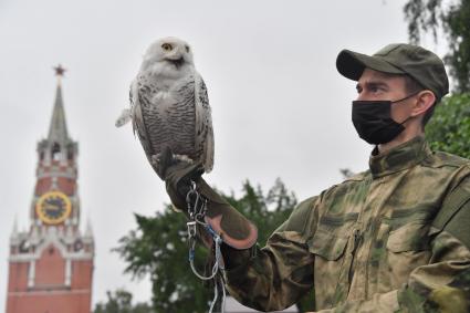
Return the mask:
{"type": "MultiPolygon", "coordinates": [[[[261,246],[288,219],[297,202],[295,195],[279,179],[268,192],[247,180],[241,197],[233,192],[221,195],[258,226],[261,246]]],[[[127,263],[125,272],[135,278],[150,277],[155,312],[206,312],[212,288],[203,288],[189,268],[186,217],[167,206],[154,217],[135,215],[135,218],[137,228],[119,240],[115,251],[127,263]]],[[[197,246],[195,262],[199,264],[199,271],[203,270],[207,253],[202,244],[197,246]]],[[[313,298],[307,296],[310,299],[300,306],[313,305],[313,298]]]]}

